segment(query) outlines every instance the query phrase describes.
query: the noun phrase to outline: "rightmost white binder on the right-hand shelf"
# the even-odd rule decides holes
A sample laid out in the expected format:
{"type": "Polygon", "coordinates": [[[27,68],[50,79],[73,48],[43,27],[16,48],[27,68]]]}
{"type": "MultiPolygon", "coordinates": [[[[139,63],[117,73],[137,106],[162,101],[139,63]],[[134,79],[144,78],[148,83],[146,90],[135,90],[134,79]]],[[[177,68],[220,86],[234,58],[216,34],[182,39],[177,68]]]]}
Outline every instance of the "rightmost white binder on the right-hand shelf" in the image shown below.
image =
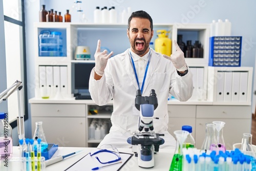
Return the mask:
{"type": "Polygon", "coordinates": [[[248,72],[240,73],[239,101],[247,101],[248,72]]]}

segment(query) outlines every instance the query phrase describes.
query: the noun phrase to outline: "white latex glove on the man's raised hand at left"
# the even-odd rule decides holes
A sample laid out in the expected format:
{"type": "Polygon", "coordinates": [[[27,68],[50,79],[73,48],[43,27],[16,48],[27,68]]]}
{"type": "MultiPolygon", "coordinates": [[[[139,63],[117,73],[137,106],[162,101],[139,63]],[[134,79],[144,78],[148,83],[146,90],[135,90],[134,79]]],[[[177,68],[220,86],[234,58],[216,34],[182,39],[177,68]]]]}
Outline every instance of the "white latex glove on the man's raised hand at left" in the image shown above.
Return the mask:
{"type": "Polygon", "coordinates": [[[97,49],[94,54],[94,58],[95,58],[94,71],[96,72],[96,74],[100,76],[102,76],[104,73],[108,59],[113,55],[113,52],[110,52],[110,54],[107,54],[106,52],[107,52],[106,50],[104,50],[103,52],[100,52],[100,40],[98,40],[97,49]]]}

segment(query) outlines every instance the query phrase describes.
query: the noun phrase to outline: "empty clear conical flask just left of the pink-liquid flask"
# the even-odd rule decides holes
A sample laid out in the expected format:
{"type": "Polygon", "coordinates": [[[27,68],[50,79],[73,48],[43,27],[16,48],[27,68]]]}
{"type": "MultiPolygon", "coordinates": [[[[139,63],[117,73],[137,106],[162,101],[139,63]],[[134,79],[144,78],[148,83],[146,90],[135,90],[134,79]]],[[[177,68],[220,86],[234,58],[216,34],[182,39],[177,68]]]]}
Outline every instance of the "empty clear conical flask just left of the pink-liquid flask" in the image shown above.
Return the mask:
{"type": "Polygon", "coordinates": [[[216,151],[219,153],[219,149],[217,146],[217,141],[215,137],[216,132],[216,125],[214,123],[206,123],[206,130],[205,130],[205,138],[203,145],[201,147],[201,151],[206,152],[207,150],[216,151]]]}

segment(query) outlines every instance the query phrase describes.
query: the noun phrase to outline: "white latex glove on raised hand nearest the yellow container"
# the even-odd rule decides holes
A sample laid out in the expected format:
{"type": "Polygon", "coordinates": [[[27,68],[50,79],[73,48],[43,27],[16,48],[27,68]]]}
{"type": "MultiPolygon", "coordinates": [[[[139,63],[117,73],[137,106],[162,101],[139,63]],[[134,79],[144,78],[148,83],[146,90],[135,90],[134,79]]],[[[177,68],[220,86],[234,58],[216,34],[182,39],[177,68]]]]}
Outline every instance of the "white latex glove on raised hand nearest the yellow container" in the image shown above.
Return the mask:
{"type": "Polygon", "coordinates": [[[170,61],[173,62],[174,67],[178,70],[178,71],[185,71],[187,70],[187,65],[186,65],[186,61],[185,61],[185,57],[184,57],[184,53],[182,52],[182,50],[180,49],[179,45],[177,44],[177,41],[174,40],[174,46],[176,49],[176,52],[174,52],[172,55],[167,56],[167,55],[163,55],[166,59],[169,59],[170,61]]]}

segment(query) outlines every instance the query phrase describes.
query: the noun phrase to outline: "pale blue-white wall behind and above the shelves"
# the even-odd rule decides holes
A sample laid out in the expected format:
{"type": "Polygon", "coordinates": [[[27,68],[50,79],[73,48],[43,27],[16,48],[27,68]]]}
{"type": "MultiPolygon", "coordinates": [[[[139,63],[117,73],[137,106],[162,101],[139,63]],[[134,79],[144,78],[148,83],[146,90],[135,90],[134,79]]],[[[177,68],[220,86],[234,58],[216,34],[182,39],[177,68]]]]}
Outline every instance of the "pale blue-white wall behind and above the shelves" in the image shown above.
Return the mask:
{"type": "MultiPolygon", "coordinates": [[[[26,51],[27,51],[27,80],[28,99],[34,97],[35,85],[35,65],[33,42],[33,23],[39,22],[38,12],[40,5],[45,4],[46,9],[60,11],[62,16],[67,9],[71,10],[71,21],[78,22],[78,15],[72,9],[73,0],[25,0],[26,14],[26,51]]],[[[124,8],[131,7],[132,11],[144,10],[148,12],[154,24],[156,23],[211,23],[212,19],[229,19],[232,23],[232,35],[243,36],[242,47],[242,67],[254,67],[255,45],[256,45],[256,1],[251,0],[82,0],[81,9],[88,18],[88,22],[93,22],[93,11],[96,6],[115,6],[121,12],[124,8]]],[[[0,28],[1,29],[1,28],[0,28]]],[[[115,39],[115,37],[113,37],[115,39]]],[[[117,39],[117,38],[116,38],[117,39]]],[[[110,40],[110,42],[113,40],[110,40]]],[[[1,47],[0,47],[1,48],[1,47]]],[[[127,47],[128,48],[128,47],[127,47]]],[[[0,51],[1,52],[1,51],[0,51]]],[[[94,52],[92,52],[94,53],[94,52]]],[[[31,136],[31,119],[29,105],[29,120],[26,121],[26,135],[31,136]]],[[[27,136],[26,136],[27,137],[27,136]]],[[[29,138],[29,137],[28,137],[29,138]]]]}

